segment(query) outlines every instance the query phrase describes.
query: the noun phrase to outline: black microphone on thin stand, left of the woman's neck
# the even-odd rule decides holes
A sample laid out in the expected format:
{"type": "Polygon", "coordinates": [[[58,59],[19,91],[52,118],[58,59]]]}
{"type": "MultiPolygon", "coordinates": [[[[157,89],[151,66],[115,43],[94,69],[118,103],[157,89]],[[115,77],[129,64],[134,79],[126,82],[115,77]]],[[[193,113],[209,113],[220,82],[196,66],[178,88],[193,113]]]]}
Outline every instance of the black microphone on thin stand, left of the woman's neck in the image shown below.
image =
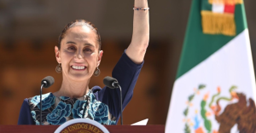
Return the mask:
{"type": "Polygon", "coordinates": [[[40,125],[42,125],[42,89],[44,88],[49,88],[52,84],[55,83],[55,78],[51,76],[45,77],[41,81],[41,89],[40,89],[40,125]]]}

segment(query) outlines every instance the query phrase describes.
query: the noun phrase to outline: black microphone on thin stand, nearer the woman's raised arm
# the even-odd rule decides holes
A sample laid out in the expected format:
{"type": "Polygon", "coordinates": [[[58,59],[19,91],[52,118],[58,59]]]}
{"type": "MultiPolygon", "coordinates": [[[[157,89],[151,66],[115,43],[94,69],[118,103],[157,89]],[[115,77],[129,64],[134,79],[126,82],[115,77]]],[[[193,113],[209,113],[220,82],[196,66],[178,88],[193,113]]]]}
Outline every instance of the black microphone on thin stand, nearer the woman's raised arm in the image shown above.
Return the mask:
{"type": "Polygon", "coordinates": [[[112,77],[105,77],[103,79],[103,84],[105,84],[106,86],[108,86],[108,88],[110,89],[116,89],[119,88],[120,89],[120,113],[121,113],[121,125],[123,125],[123,99],[122,99],[122,89],[121,86],[119,85],[119,82],[116,78],[112,78],[112,77]]]}

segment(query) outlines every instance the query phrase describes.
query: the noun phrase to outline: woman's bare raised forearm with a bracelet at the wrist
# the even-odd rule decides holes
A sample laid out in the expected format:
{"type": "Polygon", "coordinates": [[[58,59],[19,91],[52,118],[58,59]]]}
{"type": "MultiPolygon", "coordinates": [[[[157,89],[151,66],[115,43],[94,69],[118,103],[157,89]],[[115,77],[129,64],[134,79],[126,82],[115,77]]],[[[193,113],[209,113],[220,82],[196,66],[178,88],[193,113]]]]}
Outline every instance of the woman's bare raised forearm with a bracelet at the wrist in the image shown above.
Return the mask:
{"type": "MultiPolygon", "coordinates": [[[[139,9],[148,8],[148,0],[135,0],[134,7],[139,9]]],[[[148,9],[134,10],[133,32],[131,44],[126,49],[126,55],[137,64],[143,62],[149,42],[148,9]]]]}

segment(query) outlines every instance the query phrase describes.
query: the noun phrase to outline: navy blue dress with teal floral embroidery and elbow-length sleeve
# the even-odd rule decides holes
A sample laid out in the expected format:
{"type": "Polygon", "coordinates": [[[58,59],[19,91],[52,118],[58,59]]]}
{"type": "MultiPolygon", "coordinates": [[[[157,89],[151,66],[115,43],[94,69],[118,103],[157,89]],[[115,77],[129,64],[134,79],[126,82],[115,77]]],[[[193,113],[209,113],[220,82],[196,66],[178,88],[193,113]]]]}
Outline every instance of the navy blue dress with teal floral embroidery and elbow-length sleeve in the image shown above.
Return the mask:
{"type": "MultiPolygon", "coordinates": [[[[143,67],[135,64],[125,54],[121,56],[113,68],[112,76],[119,80],[122,87],[123,110],[131,101],[134,86],[143,67]]],[[[119,90],[108,87],[94,86],[87,98],[56,97],[52,93],[44,94],[42,98],[42,123],[63,124],[70,119],[94,119],[100,124],[117,124],[120,115],[119,90]]],[[[40,97],[36,95],[23,101],[20,108],[18,124],[39,124],[40,97]]]]}

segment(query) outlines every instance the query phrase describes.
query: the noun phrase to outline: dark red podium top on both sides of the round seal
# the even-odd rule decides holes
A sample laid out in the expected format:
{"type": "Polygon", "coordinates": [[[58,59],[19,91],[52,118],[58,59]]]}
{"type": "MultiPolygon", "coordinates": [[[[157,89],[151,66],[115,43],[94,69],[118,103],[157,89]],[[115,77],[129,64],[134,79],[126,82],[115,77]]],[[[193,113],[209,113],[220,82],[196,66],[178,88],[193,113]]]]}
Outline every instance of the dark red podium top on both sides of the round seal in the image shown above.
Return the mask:
{"type": "MultiPolygon", "coordinates": [[[[0,125],[0,132],[53,133],[60,125],[0,125]]],[[[105,125],[110,133],[165,133],[165,125],[105,125]]]]}

